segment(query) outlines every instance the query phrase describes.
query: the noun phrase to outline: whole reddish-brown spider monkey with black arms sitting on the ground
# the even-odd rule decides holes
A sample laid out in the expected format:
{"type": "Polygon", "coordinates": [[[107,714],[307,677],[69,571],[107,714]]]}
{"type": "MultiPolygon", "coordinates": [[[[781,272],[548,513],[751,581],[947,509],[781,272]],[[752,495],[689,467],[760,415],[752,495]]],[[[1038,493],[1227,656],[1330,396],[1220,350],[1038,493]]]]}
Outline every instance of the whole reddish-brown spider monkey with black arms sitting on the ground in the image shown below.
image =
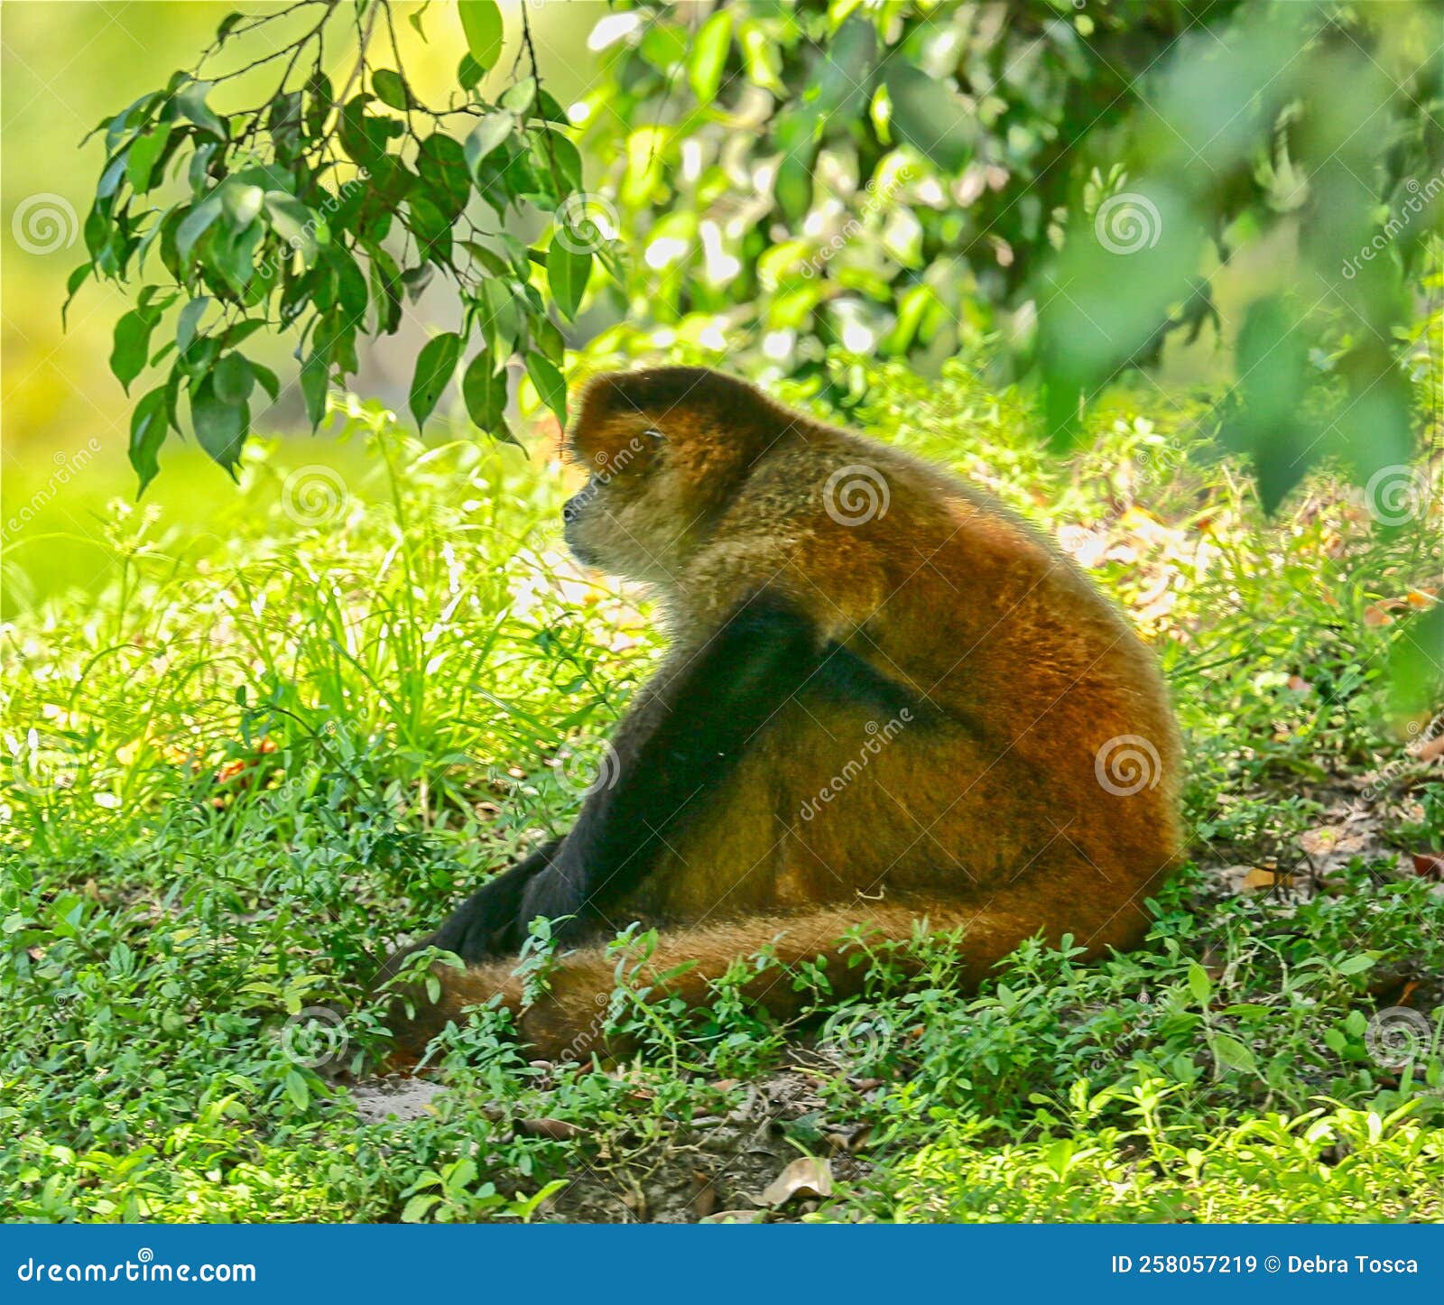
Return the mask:
{"type": "MultiPolygon", "coordinates": [[[[1069,559],[946,472],[703,368],[598,377],[567,453],[591,469],[569,547],[648,586],[671,650],[570,833],[414,944],[469,967],[439,970],[399,1051],[497,993],[539,1054],[591,1049],[631,921],[658,928],[650,973],[692,961],[666,985],[687,1000],[858,925],[957,931],[970,983],[1040,933],[1142,940],[1181,745],[1152,655],[1069,559]],[[536,917],[573,950],[524,1005],[536,917]]],[[[787,1013],[773,977],[751,995],[787,1013]]]]}

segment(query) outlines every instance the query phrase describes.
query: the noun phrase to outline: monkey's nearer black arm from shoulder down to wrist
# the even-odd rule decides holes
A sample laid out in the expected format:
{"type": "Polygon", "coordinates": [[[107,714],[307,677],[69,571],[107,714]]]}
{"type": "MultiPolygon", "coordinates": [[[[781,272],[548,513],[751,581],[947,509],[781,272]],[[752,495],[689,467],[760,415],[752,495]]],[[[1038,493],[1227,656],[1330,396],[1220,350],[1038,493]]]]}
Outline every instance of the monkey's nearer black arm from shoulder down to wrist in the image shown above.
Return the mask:
{"type": "Polygon", "coordinates": [[[582,807],[576,826],[527,883],[521,924],[572,917],[560,937],[604,920],[602,908],[653,869],[667,840],[697,819],[777,710],[845,654],[822,647],[791,603],[760,592],[700,647],[676,654],[615,738],[615,778],[582,807]]]}

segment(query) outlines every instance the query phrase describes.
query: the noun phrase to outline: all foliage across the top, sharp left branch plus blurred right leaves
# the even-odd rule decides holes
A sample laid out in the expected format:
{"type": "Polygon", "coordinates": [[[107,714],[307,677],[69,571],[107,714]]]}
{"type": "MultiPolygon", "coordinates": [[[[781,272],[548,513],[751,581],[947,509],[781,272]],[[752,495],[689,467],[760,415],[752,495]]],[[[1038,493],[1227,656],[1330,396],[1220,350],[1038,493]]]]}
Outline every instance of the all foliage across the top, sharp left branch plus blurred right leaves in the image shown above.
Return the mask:
{"type": "Polygon", "coordinates": [[[445,105],[407,77],[399,10],[232,14],[193,72],[104,124],[71,292],[92,273],[136,287],[113,368],[127,387],[169,368],[134,407],[142,486],[182,391],[234,468],[256,387],[280,387],[241,352],[251,335],[299,342],[315,424],[358,338],[394,332],[438,271],[462,326],[420,349],[417,423],[461,371],[468,416],[510,437],[508,365],[562,417],[562,323],[595,307],[589,325],[669,326],[793,374],[832,344],[915,365],[986,345],[1040,384],[1058,443],[1119,371],[1212,333],[1233,383],[1210,417],[1268,505],[1324,455],[1367,478],[1411,453],[1401,357],[1444,196],[1432,0],[621,0],[589,10],[596,66],[569,113],[524,6],[526,66],[495,102],[497,4],[409,10],[464,51],[445,105]],[[355,48],[339,88],[338,39],[355,48]],[[205,72],[237,48],[270,53],[205,72]],[[258,65],[283,68],[264,104],[214,107],[258,65]],[[534,214],[543,247],[514,234],[534,214]]]}

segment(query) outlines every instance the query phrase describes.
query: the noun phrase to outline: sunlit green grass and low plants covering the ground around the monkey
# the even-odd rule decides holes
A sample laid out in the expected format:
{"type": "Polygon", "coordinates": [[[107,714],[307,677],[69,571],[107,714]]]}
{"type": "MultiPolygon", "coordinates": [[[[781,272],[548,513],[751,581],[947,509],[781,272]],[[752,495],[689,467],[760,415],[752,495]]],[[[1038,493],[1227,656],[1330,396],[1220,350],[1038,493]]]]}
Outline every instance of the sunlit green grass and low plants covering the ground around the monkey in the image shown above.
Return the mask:
{"type": "Polygon", "coordinates": [[[563,556],[554,468],[351,403],[365,479],[289,479],[292,446],[217,481],[204,538],[117,510],[104,588],[4,629],[0,1217],[696,1217],[693,1172],[725,1208],[803,1153],[835,1192],[787,1217],[1444,1217],[1444,899],[1411,859],[1444,850],[1444,784],[1388,678],[1438,523],[1379,530],[1327,478],[1264,523],[1201,403],[1121,390],[1061,458],[963,367],[833,380],[791,397],[988,484],[1157,647],[1196,865],[1148,946],[1027,946],[965,995],[936,941],[904,982],[861,940],[861,999],[781,976],[814,996],[788,1028],[738,996],[765,957],[702,1012],[628,979],[599,1012],[625,1060],[533,1064],[481,1012],[429,1110],[361,1122],[328,1071],[384,1048],[374,1012],[329,1041],[303,1012],[566,827],[658,645],[563,556]],[[1307,868],[1367,782],[1370,839],[1317,892],[1222,872],[1307,868]]]}

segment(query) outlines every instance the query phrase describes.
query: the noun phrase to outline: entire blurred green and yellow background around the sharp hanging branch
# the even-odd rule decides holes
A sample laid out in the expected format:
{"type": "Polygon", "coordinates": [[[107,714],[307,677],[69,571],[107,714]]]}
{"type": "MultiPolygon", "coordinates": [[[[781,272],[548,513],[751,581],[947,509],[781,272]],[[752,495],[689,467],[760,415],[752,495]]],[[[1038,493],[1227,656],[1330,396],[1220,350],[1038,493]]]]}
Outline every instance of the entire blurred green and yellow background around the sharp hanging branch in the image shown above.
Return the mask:
{"type": "MultiPolygon", "coordinates": [[[[111,499],[134,497],[124,446],[142,391],[127,398],[107,367],[133,299],[92,277],[69,329],[61,322],[104,163],[101,141],[81,139],[193,69],[231,10],[4,6],[4,614],[94,589],[111,566],[95,543],[114,523],[111,499]]],[[[503,10],[485,102],[527,69],[521,10],[503,10]]],[[[1399,479],[1417,432],[1425,443],[1437,433],[1437,411],[1411,413],[1408,384],[1421,374],[1409,351],[1438,349],[1434,0],[579,0],[527,12],[544,87],[567,108],[586,186],[617,227],[608,274],[593,267],[582,319],[563,323],[583,370],[684,355],[764,384],[810,381],[846,409],[856,396],[829,374],[829,352],[905,358],[924,375],[962,358],[989,384],[1030,387],[1060,450],[1083,394],[1136,385],[1175,414],[1206,396],[1200,426],[1252,459],[1268,508],[1326,456],[1359,485],[1399,479]],[[1411,217],[1415,196],[1428,202],[1411,217]],[[1138,248],[1103,238],[1110,211],[1142,224],[1119,231],[1139,234],[1138,248]],[[1379,232],[1380,257],[1359,263],[1379,232]]],[[[448,102],[465,49],[455,6],[396,14],[425,14],[425,36],[396,22],[383,58],[425,101],[448,102]]],[[[310,22],[283,16],[219,62],[280,48],[310,22]]],[[[334,43],[326,62],[339,84],[354,53],[334,43]]],[[[276,68],[217,85],[215,108],[264,104],[276,68]]],[[[537,250],[562,209],[508,209],[494,225],[537,250]]],[[[404,411],[420,346],[458,315],[455,286],[436,276],[396,335],[358,341],[348,384],[404,411]]],[[[286,387],[256,413],[261,435],[299,437],[308,424],[289,385],[292,345],[250,345],[286,387]]],[[[438,416],[448,409],[456,416],[445,401],[438,416]]],[[[529,448],[547,456],[544,440],[529,448]]],[[[305,458],[364,479],[364,455],[334,439],[308,437],[305,458]]],[[[214,463],[176,437],[160,462],[143,511],[179,527],[180,543],[224,537],[240,508],[214,463]]]]}

